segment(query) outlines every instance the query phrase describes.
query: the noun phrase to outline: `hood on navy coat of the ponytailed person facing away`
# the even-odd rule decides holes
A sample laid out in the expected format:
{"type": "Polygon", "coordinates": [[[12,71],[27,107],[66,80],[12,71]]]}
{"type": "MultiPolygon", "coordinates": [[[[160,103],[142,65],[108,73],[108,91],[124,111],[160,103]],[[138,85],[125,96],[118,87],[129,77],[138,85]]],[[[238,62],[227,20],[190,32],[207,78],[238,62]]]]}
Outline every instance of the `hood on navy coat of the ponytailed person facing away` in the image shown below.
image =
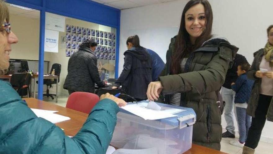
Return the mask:
{"type": "Polygon", "coordinates": [[[132,56],[136,57],[140,61],[147,61],[150,58],[150,55],[147,52],[147,49],[143,47],[132,47],[130,50],[125,51],[124,55],[125,54],[131,54],[132,56]]]}

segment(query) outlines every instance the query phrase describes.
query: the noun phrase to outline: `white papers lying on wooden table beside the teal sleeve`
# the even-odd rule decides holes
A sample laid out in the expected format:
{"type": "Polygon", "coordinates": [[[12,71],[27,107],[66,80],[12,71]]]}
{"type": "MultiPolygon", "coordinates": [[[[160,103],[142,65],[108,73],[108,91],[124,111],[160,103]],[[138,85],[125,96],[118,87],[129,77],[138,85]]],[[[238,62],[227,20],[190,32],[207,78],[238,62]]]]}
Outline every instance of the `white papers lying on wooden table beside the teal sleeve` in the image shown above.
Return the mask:
{"type": "Polygon", "coordinates": [[[51,123],[59,123],[59,122],[63,122],[66,120],[70,120],[69,117],[63,116],[63,115],[59,115],[59,114],[55,114],[55,112],[58,111],[50,111],[50,110],[39,110],[39,109],[31,109],[34,114],[37,115],[37,117],[41,117],[43,119],[46,119],[48,121],[50,121],[51,123]]]}

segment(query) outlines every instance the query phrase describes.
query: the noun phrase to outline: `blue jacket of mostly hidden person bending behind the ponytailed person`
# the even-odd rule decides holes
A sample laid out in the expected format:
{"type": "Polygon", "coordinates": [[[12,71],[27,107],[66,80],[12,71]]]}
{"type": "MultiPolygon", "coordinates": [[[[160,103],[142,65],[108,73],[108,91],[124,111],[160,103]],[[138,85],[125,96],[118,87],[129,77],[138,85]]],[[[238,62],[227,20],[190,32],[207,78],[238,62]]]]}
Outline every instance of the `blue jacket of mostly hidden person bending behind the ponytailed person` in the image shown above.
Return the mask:
{"type": "Polygon", "coordinates": [[[158,81],[158,77],[164,69],[165,63],[159,57],[159,55],[151,49],[147,49],[152,58],[152,81],[158,81]]]}

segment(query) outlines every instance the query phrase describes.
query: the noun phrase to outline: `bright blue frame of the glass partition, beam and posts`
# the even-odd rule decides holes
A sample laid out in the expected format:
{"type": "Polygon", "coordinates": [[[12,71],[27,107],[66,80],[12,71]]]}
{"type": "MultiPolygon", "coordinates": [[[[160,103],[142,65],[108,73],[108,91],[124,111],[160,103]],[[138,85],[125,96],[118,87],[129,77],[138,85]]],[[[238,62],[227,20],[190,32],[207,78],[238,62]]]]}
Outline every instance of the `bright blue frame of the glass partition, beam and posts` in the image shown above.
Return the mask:
{"type": "MultiPolygon", "coordinates": [[[[120,10],[90,0],[7,0],[40,11],[39,70],[43,71],[46,12],[116,28],[115,78],[119,71],[120,10]]],[[[38,99],[43,100],[43,76],[38,77],[38,99]]]]}

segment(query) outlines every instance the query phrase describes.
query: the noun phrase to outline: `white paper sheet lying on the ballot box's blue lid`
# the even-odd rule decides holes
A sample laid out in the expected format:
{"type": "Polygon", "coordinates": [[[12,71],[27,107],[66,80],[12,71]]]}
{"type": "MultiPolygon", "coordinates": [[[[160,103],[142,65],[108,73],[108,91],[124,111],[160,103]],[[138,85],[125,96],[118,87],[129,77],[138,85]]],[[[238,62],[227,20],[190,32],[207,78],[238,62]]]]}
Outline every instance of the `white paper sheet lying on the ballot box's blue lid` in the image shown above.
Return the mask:
{"type": "Polygon", "coordinates": [[[138,104],[126,105],[121,108],[145,120],[157,120],[157,119],[164,119],[164,118],[177,116],[174,114],[163,112],[162,110],[157,111],[157,110],[147,109],[146,108],[147,105],[148,103],[138,103],[138,104]]]}

